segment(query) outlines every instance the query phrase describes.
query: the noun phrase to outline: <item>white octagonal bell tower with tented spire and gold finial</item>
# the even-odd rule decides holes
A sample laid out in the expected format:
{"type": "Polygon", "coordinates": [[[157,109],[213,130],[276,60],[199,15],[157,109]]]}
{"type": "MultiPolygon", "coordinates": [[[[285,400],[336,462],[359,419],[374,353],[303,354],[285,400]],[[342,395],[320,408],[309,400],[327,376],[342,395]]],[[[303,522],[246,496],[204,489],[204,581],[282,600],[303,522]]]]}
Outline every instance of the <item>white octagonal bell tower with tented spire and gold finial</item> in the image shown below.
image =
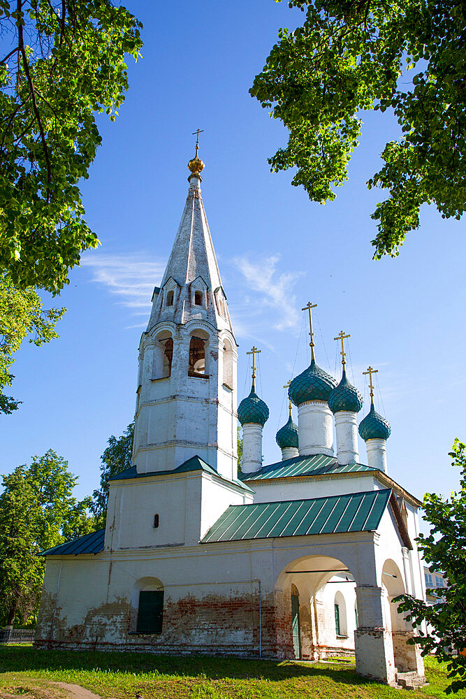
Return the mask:
{"type": "Polygon", "coordinates": [[[133,464],[174,470],[200,456],[235,480],[238,354],[201,196],[203,161],[189,190],[161,287],[139,347],[133,464]]]}

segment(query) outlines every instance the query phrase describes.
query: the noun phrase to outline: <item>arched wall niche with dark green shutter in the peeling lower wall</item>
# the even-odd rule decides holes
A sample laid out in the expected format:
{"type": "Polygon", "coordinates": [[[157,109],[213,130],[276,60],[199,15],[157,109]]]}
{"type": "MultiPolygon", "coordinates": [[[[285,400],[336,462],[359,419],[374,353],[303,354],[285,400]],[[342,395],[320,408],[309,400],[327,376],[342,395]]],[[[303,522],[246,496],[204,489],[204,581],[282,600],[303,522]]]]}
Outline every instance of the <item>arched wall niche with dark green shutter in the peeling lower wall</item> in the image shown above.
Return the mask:
{"type": "Polygon", "coordinates": [[[156,577],[136,580],[131,593],[133,633],[162,633],[163,584],[156,577]]]}

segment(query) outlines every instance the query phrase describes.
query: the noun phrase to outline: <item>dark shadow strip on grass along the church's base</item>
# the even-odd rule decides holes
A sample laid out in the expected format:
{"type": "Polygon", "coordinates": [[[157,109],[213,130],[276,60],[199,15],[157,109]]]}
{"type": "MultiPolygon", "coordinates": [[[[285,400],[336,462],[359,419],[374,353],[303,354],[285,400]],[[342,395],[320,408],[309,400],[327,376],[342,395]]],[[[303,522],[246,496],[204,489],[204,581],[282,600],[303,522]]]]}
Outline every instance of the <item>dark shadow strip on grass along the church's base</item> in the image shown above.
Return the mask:
{"type": "Polygon", "coordinates": [[[368,684],[354,668],[341,665],[298,665],[286,661],[246,660],[212,656],[160,656],[152,653],[38,650],[33,647],[0,647],[0,672],[97,670],[102,672],[158,672],[160,675],[209,679],[268,679],[328,677],[344,684],[368,684]]]}

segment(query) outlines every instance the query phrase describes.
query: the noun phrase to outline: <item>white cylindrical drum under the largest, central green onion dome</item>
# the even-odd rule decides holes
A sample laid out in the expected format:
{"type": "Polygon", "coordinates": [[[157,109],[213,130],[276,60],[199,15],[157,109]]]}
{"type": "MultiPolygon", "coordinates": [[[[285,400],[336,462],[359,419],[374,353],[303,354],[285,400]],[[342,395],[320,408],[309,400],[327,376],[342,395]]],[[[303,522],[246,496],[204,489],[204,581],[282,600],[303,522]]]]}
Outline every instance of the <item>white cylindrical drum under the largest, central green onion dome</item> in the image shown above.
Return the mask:
{"type": "Polygon", "coordinates": [[[327,401],[309,401],[298,406],[300,456],[333,456],[333,415],[327,401]]]}

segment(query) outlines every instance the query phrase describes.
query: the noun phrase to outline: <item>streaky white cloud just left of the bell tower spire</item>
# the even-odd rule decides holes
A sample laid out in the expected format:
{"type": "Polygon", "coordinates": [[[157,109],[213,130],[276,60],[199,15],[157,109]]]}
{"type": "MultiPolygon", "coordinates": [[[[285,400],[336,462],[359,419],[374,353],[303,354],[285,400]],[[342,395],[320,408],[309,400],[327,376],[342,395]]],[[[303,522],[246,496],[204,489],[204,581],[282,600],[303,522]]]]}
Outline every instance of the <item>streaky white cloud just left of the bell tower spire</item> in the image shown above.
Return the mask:
{"type": "MultiPolygon", "coordinates": [[[[92,282],[103,284],[118,303],[131,308],[133,315],[145,315],[151,307],[152,291],[160,283],[166,262],[147,259],[143,254],[85,255],[81,266],[92,273],[92,282]]],[[[138,327],[138,326],[131,326],[138,327]]]]}

